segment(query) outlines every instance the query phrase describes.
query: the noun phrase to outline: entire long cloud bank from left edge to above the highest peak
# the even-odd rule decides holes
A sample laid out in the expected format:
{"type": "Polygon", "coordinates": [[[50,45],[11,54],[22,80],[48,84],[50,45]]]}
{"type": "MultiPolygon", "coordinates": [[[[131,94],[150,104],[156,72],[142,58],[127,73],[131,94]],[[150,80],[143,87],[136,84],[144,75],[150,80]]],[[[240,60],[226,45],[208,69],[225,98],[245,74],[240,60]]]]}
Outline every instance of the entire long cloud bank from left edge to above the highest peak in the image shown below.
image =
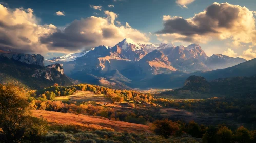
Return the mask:
{"type": "Polygon", "coordinates": [[[74,20],[65,28],[39,25],[32,9],[9,9],[0,5],[0,48],[23,53],[70,53],[99,45],[114,46],[124,38],[147,43],[149,38],[131,27],[115,25],[117,15],[74,20]]]}

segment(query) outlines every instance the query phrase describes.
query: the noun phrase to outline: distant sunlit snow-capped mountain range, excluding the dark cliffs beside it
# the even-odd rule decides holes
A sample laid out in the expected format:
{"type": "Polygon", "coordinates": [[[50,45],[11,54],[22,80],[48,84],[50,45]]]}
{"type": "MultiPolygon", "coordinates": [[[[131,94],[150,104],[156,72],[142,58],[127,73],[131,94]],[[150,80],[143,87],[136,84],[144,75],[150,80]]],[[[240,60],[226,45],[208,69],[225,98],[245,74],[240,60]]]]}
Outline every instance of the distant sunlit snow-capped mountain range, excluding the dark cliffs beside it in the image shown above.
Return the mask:
{"type": "MultiPolygon", "coordinates": [[[[62,63],[65,73],[81,82],[126,89],[152,88],[149,83],[155,78],[160,80],[161,76],[165,80],[169,76],[183,77],[245,61],[221,54],[208,57],[199,44],[187,47],[172,43],[141,44],[130,38],[113,47],[101,45],[86,52],[46,60],[48,64],[62,63]]],[[[172,84],[166,87],[175,88],[172,84]]]]}

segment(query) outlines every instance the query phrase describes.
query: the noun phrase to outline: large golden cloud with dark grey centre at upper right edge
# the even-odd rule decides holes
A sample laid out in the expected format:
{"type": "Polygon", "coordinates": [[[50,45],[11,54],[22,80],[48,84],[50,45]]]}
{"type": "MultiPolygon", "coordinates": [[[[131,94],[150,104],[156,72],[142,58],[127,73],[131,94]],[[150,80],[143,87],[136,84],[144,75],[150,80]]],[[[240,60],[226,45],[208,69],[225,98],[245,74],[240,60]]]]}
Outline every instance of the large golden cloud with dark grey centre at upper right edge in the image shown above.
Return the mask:
{"type": "Polygon", "coordinates": [[[163,16],[164,28],[159,39],[173,41],[208,42],[213,39],[231,39],[234,46],[256,44],[255,18],[246,7],[229,3],[213,3],[194,17],[163,16]]]}

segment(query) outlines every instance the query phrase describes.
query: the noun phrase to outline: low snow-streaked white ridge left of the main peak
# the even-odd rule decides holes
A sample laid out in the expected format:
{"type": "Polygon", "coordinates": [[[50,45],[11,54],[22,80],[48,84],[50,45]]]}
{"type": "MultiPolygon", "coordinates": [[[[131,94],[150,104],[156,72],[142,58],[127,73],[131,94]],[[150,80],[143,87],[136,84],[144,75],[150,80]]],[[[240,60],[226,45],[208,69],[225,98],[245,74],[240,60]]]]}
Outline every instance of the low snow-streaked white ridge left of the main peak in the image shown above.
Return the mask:
{"type": "Polygon", "coordinates": [[[61,57],[53,57],[53,58],[50,58],[48,59],[48,61],[54,61],[54,62],[57,62],[57,61],[65,61],[65,62],[68,62],[68,61],[73,61],[75,59],[77,59],[78,57],[82,57],[84,55],[86,55],[88,51],[85,51],[85,52],[80,52],[80,53],[70,53],[70,54],[67,54],[67,55],[64,55],[64,56],[61,56],[61,57]]]}

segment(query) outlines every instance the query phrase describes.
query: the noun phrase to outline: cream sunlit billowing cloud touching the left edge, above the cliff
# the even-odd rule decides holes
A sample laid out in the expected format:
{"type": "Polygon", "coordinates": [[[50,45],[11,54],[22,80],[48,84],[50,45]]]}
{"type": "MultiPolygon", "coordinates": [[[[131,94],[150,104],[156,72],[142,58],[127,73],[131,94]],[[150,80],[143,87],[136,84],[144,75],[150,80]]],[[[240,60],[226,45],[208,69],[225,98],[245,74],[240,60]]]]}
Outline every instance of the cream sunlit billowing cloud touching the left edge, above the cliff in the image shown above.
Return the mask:
{"type": "Polygon", "coordinates": [[[48,51],[40,37],[56,31],[54,25],[39,25],[32,9],[9,9],[0,4],[0,48],[24,53],[48,51]]]}

